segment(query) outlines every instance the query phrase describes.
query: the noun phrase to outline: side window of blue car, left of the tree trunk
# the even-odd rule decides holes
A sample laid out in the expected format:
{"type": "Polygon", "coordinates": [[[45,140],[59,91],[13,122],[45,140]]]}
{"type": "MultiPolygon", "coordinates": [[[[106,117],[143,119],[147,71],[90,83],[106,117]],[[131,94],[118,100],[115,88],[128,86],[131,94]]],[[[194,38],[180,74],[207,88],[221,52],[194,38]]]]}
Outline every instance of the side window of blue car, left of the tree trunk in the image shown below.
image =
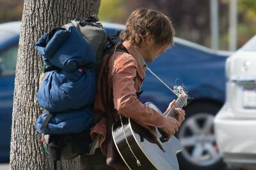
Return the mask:
{"type": "Polygon", "coordinates": [[[0,53],[0,76],[15,74],[18,45],[11,46],[0,53]]]}

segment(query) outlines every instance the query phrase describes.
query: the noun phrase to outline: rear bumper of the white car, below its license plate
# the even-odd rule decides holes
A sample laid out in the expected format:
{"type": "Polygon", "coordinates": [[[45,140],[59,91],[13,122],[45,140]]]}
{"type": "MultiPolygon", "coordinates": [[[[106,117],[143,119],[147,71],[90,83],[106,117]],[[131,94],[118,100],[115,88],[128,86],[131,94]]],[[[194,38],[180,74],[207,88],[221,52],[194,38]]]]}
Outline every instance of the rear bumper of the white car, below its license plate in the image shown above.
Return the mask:
{"type": "Polygon", "coordinates": [[[256,119],[223,117],[230,114],[221,111],[214,119],[214,131],[223,160],[233,166],[256,169],[256,119]]]}

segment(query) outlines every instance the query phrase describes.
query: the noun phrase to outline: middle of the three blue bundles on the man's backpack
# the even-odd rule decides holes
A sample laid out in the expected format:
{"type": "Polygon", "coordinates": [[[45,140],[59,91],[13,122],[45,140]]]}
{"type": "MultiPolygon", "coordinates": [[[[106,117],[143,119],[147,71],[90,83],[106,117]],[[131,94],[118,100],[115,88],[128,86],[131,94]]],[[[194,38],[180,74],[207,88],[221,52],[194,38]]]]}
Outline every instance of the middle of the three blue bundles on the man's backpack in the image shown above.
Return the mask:
{"type": "Polygon", "coordinates": [[[37,101],[51,112],[77,110],[92,107],[95,96],[95,72],[49,71],[42,81],[37,101]]]}

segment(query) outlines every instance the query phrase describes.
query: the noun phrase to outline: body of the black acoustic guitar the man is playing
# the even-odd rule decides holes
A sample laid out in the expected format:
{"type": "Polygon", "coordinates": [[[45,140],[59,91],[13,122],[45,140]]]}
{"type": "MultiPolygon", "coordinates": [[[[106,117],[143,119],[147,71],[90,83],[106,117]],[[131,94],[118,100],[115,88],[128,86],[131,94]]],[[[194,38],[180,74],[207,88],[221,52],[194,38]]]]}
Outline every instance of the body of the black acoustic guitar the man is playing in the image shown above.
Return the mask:
{"type": "MultiPolygon", "coordinates": [[[[152,103],[147,105],[151,105],[151,108],[156,107],[152,103]]],[[[157,108],[154,109],[158,111],[157,108]]],[[[112,136],[120,156],[129,169],[179,170],[176,154],[182,150],[182,145],[175,136],[160,146],[147,129],[130,118],[122,118],[122,124],[120,120],[113,124],[112,136]]]]}

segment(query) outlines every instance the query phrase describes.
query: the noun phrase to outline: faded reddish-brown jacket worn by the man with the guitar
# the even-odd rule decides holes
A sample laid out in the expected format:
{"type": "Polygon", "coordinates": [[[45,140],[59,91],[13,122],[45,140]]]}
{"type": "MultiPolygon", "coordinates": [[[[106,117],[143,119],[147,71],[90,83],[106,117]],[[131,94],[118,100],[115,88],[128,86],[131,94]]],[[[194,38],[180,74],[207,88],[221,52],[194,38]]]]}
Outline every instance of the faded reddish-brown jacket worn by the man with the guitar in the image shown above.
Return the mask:
{"type": "MultiPolygon", "coordinates": [[[[121,113],[124,117],[132,118],[141,125],[156,127],[161,127],[164,118],[157,111],[144,106],[138,100],[136,92],[140,90],[141,83],[145,78],[147,65],[134,46],[127,41],[124,41],[123,45],[129,53],[116,52],[115,60],[113,61],[112,55],[108,65],[108,80],[113,78],[113,84],[109,86],[111,93],[113,93],[113,104],[116,111],[108,115],[108,117],[101,118],[100,122],[93,127],[91,132],[93,139],[97,134],[100,135],[100,150],[107,157],[107,164],[115,167],[115,169],[128,169],[116,152],[111,137],[111,125],[114,118],[119,118],[118,113],[121,113]]],[[[106,63],[106,58],[104,57],[102,67],[106,63]]],[[[95,118],[99,118],[102,114],[106,113],[102,103],[101,90],[108,89],[101,86],[101,80],[102,69],[97,80],[97,92],[93,109],[95,118]]]]}

